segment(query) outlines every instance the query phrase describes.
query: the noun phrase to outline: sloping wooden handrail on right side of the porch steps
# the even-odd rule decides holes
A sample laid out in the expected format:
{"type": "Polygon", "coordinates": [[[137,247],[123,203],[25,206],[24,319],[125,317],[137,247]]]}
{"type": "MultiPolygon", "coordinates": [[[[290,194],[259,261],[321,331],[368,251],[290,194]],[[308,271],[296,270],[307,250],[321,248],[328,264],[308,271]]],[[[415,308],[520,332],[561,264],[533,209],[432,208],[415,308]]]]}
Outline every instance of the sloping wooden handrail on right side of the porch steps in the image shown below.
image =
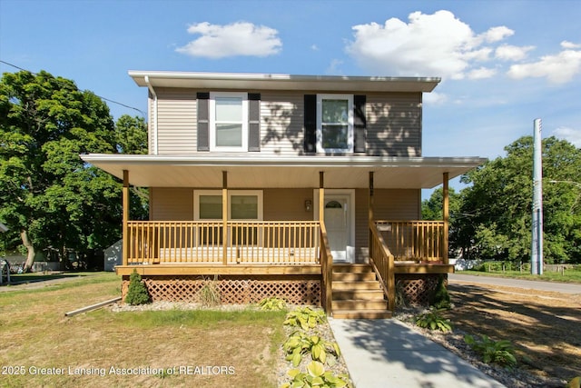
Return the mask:
{"type": "Polygon", "coordinates": [[[378,226],[373,221],[369,222],[369,264],[373,267],[379,278],[383,293],[388,299],[388,308],[395,310],[396,305],[396,279],[395,262],[388,245],[379,233],[378,226]]]}

